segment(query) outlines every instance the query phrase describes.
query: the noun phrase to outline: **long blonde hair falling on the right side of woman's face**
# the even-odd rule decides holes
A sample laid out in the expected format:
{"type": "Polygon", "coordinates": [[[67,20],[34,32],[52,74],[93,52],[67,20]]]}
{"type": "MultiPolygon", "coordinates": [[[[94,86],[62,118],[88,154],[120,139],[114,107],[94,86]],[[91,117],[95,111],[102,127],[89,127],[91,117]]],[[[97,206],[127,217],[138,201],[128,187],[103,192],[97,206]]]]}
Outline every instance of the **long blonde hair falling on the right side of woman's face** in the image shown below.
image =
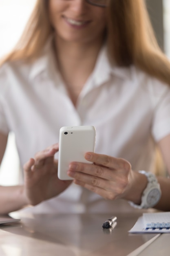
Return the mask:
{"type": "Polygon", "coordinates": [[[144,0],[111,0],[108,8],[110,61],[136,65],[170,85],[170,61],[155,38],[144,0]]]}

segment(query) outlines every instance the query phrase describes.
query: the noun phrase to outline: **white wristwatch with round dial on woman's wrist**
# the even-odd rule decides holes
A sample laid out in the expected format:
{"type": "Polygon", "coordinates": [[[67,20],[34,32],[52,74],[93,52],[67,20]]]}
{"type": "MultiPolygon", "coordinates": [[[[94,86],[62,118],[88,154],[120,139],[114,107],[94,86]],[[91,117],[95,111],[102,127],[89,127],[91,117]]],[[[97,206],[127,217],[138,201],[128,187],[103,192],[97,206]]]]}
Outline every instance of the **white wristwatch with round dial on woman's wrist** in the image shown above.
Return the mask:
{"type": "Polygon", "coordinates": [[[146,189],[144,189],[143,191],[141,197],[141,204],[138,205],[131,201],[129,203],[132,207],[135,207],[137,209],[147,209],[153,207],[159,202],[161,198],[161,188],[155,174],[146,171],[139,171],[139,173],[146,175],[148,179],[148,184],[146,186],[146,189]]]}

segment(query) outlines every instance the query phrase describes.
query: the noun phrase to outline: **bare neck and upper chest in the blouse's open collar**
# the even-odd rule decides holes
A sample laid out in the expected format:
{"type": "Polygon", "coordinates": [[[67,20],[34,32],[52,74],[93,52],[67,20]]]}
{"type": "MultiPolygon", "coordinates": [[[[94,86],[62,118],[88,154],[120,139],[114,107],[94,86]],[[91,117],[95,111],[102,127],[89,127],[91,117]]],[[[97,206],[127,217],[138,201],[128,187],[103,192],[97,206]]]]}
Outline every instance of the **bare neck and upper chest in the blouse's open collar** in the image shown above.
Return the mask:
{"type": "Polygon", "coordinates": [[[55,38],[57,65],[74,104],[95,67],[102,43],[103,40],[72,43],[55,38]]]}

